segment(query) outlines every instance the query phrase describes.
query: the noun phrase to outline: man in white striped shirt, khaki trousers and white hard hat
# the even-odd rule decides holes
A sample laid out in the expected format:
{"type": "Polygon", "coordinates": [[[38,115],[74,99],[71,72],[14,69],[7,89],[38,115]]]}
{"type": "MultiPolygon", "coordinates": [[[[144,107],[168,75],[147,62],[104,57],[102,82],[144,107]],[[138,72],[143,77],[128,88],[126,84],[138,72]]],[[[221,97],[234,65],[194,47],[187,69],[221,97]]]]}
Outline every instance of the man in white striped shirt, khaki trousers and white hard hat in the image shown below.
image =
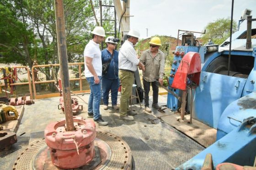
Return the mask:
{"type": "Polygon", "coordinates": [[[139,62],[134,45],[139,40],[139,31],[130,30],[127,34],[127,40],[123,43],[119,50],[118,66],[119,79],[122,84],[122,95],[120,98],[120,119],[132,121],[134,118],[128,115],[135,115],[137,113],[129,109],[129,98],[132,94],[134,72],[139,66],[143,71],[145,67],[142,62],[139,62]]]}

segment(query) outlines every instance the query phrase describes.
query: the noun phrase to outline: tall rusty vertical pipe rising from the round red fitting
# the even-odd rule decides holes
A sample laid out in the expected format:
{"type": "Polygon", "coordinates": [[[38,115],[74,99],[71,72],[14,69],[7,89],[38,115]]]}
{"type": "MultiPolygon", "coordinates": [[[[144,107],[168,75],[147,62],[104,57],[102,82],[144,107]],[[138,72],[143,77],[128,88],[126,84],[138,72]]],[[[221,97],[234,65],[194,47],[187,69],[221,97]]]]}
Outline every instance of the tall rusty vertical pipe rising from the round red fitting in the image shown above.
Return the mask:
{"type": "Polygon", "coordinates": [[[64,112],[66,118],[67,131],[74,130],[74,120],[71,106],[71,95],[69,85],[69,67],[68,67],[68,55],[65,33],[65,20],[64,20],[64,7],[63,0],[55,1],[55,18],[56,18],[56,31],[58,40],[58,52],[59,52],[59,65],[60,76],[62,84],[62,93],[64,100],[64,112]]]}

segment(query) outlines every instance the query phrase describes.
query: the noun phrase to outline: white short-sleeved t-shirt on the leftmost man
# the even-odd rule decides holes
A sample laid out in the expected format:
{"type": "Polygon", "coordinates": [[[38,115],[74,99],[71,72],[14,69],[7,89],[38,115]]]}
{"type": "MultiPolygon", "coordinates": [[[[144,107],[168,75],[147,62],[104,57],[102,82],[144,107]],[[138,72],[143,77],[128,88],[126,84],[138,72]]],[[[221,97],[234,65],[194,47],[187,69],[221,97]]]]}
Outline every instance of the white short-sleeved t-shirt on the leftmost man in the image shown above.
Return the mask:
{"type": "MultiPolygon", "coordinates": [[[[90,40],[89,43],[85,46],[84,57],[92,58],[92,66],[94,67],[95,72],[98,76],[101,76],[102,73],[102,62],[101,62],[101,50],[100,45],[90,40]]],[[[88,70],[85,63],[85,77],[93,77],[91,72],[88,70]]]]}

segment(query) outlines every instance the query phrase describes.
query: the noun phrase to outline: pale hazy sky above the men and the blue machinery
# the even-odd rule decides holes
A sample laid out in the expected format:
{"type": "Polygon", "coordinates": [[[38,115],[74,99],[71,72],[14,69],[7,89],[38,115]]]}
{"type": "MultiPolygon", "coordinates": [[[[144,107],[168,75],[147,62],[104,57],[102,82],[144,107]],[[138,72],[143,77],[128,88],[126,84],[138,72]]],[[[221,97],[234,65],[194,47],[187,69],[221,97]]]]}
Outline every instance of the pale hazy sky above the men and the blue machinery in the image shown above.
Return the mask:
{"type": "MultiPolygon", "coordinates": [[[[154,35],[177,37],[178,29],[204,31],[209,22],[231,17],[232,0],[130,0],[130,28],[141,38],[154,35]]],[[[256,0],[234,0],[233,19],[238,22],[245,8],[256,18],[256,0]]],[[[256,28],[256,21],[252,22],[256,28]]],[[[244,21],[240,29],[246,29],[244,21]]],[[[200,36],[200,34],[195,34],[200,36]]]]}

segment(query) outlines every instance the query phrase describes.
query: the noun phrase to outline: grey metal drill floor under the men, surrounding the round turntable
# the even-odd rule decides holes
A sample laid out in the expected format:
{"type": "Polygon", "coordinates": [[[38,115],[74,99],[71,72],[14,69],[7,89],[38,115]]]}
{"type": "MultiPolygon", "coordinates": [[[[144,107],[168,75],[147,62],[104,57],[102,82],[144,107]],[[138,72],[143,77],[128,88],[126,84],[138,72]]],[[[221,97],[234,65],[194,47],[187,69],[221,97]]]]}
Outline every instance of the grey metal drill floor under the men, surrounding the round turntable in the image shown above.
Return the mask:
{"type": "MultiPolygon", "coordinates": [[[[79,97],[88,101],[89,94],[80,94],[79,97]]],[[[159,104],[165,104],[167,98],[160,97],[159,104]]],[[[35,104],[26,105],[21,124],[17,131],[18,142],[8,151],[0,152],[0,167],[3,170],[13,170],[18,156],[33,142],[43,138],[45,127],[54,121],[64,118],[58,110],[59,98],[36,100],[35,104]]],[[[79,99],[84,110],[78,116],[87,118],[87,104],[79,99]]],[[[109,104],[111,106],[111,103],[109,104]]],[[[102,118],[109,122],[108,126],[98,126],[96,130],[110,132],[121,137],[130,147],[134,159],[133,169],[136,170],[171,170],[186,162],[204,149],[194,140],[188,138],[161,118],[169,116],[170,110],[159,113],[153,109],[152,113],[144,112],[139,104],[133,105],[138,114],[134,121],[128,122],[119,119],[117,110],[109,107],[100,108],[102,118]]]]}

